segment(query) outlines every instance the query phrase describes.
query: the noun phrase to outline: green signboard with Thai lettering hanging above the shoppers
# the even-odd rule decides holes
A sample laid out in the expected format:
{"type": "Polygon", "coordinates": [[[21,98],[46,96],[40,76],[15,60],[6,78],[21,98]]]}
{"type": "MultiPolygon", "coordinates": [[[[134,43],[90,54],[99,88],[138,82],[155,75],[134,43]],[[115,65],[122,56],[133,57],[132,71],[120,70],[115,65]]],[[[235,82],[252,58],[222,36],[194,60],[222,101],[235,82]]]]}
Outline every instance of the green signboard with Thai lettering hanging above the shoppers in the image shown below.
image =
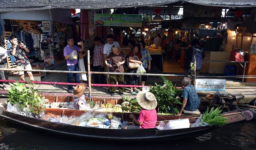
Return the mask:
{"type": "Polygon", "coordinates": [[[94,15],[95,26],[142,26],[141,15],[100,14],[94,15]]]}

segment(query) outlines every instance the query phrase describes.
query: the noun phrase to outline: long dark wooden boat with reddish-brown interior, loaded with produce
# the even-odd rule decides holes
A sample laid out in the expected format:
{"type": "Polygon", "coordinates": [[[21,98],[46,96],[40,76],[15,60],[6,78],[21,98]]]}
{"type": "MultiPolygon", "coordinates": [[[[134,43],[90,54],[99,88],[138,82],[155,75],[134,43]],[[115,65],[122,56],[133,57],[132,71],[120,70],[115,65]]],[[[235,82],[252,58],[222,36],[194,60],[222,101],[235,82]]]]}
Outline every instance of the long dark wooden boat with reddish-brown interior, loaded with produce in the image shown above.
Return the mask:
{"type": "MultiPolygon", "coordinates": [[[[72,101],[72,97],[55,97],[55,99],[49,99],[50,102],[58,101],[72,101]]],[[[95,100],[95,99],[94,99],[95,100]]],[[[97,100],[95,100],[97,101],[97,100]]],[[[108,101],[108,100],[106,100],[108,101]]],[[[112,100],[110,100],[111,102],[112,100]]],[[[119,103],[118,100],[114,100],[119,103]]],[[[44,113],[51,113],[55,115],[61,116],[80,116],[84,114],[84,111],[80,110],[70,110],[70,109],[52,109],[47,108],[44,113]]],[[[131,122],[129,117],[131,113],[113,113],[114,116],[120,117],[125,121],[131,122]]],[[[138,116],[138,114],[135,114],[138,116]]],[[[206,126],[206,127],[190,127],[183,129],[166,129],[159,130],[157,128],[152,129],[101,129],[94,127],[81,127],[71,124],[63,124],[58,122],[50,122],[43,119],[31,118],[28,116],[23,116],[20,114],[14,114],[12,112],[3,110],[2,115],[3,118],[10,120],[16,124],[20,124],[21,126],[34,129],[41,132],[47,132],[48,134],[57,134],[61,136],[71,137],[71,138],[87,138],[91,140],[102,139],[102,140],[114,140],[118,142],[131,142],[131,141],[173,141],[180,140],[191,137],[198,137],[203,134],[209,133],[217,127],[214,126],[206,126]]],[[[241,114],[240,111],[230,111],[224,114],[227,117],[227,124],[239,122],[245,120],[246,117],[241,114]]],[[[196,119],[199,115],[182,115],[182,116],[174,116],[174,115],[158,115],[157,121],[167,122],[168,120],[173,119],[189,119],[190,123],[196,122],[196,119]]]]}

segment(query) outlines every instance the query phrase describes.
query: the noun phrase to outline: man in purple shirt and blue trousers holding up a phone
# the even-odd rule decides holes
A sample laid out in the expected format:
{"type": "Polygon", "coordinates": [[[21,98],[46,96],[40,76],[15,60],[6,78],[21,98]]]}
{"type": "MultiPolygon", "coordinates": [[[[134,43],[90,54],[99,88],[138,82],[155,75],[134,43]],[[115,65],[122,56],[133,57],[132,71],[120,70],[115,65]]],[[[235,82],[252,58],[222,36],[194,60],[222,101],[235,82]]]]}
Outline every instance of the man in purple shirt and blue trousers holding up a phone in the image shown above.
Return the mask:
{"type": "MultiPolygon", "coordinates": [[[[68,45],[64,48],[64,57],[67,60],[67,69],[68,71],[79,71],[78,56],[76,56],[76,59],[70,59],[70,58],[71,58],[71,53],[73,51],[77,52],[76,55],[78,54],[78,51],[84,52],[84,42],[81,41],[81,48],[74,45],[73,37],[68,37],[67,42],[68,42],[68,45]]],[[[68,73],[68,83],[72,83],[72,77],[73,77],[73,73],[68,73]]],[[[80,83],[78,73],[76,73],[76,83],[80,83]]],[[[68,93],[73,93],[72,85],[68,85],[68,93]]]]}

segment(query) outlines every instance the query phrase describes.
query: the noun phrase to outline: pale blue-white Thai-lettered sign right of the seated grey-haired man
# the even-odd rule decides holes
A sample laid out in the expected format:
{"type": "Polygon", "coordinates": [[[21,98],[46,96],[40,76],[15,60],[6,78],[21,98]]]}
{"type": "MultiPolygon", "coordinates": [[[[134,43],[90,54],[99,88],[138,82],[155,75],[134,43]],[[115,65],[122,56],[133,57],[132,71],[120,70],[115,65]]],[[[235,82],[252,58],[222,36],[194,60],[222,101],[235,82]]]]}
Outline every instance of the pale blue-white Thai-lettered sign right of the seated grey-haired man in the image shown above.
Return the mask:
{"type": "Polygon", "coordinates": [[[196,79],[196,91],[225,91],[226,80],[196,79]]]}

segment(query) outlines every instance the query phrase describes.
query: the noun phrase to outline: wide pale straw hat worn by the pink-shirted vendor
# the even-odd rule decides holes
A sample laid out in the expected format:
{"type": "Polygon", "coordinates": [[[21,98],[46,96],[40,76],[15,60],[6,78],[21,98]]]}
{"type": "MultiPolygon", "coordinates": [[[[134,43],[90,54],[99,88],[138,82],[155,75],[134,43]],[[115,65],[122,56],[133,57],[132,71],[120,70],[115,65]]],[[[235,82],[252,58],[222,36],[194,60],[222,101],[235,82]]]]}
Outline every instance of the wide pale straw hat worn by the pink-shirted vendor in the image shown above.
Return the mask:
{"type": "Polygon", "coordinates": [[[146,110],[152,110],[157,107],[157,99],[151,92],[141,91],[137,94],[136,99],[138,104],[146,110]]]}

